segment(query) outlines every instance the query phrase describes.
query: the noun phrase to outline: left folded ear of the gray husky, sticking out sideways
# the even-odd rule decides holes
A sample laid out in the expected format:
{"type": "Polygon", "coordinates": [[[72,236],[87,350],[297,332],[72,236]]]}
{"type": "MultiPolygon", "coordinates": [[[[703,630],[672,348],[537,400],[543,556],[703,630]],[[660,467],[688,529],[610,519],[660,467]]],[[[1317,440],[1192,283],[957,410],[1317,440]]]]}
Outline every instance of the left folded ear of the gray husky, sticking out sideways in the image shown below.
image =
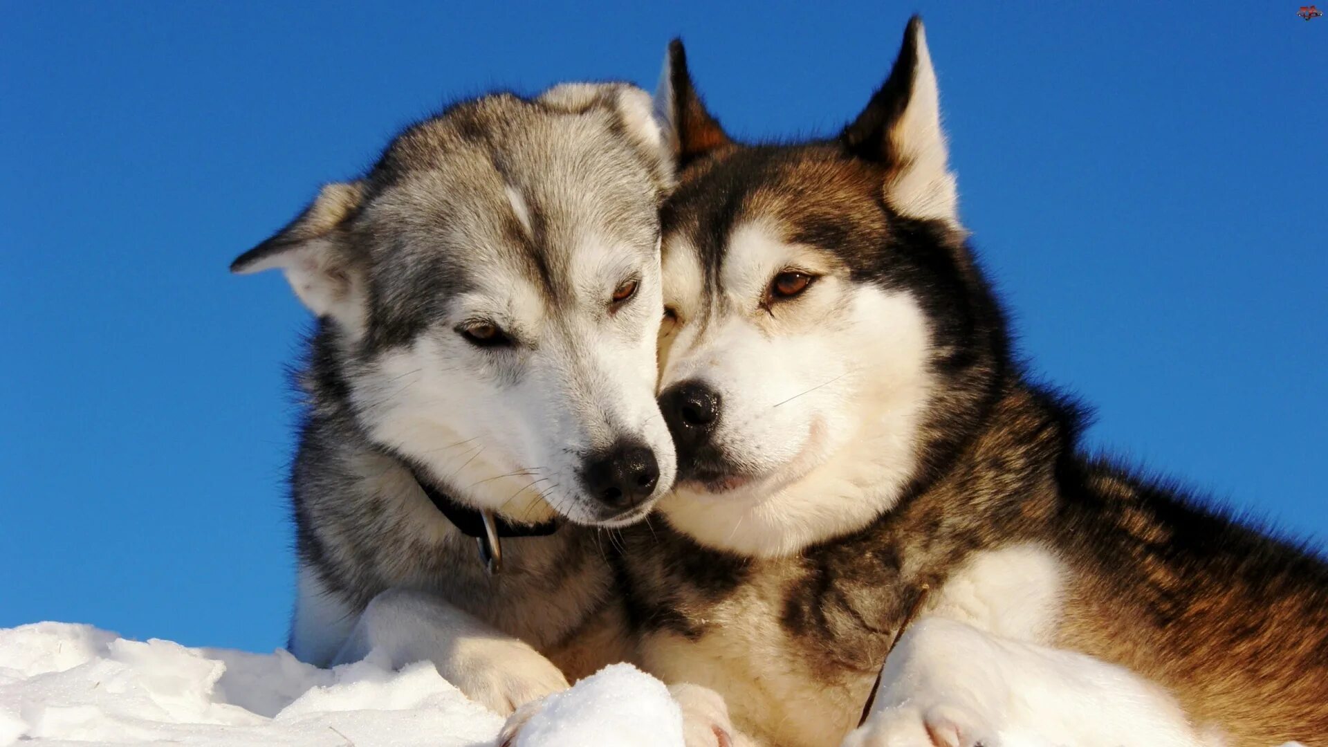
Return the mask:
{"type": "Polygon", "coordinates": [[[231,272],[283,270],[309,311],[331,316],[359,338],[365,316],[364,272],[340,234],[363,198],[363,182],[324,186],[304,213],[231,262],[231,272]]]}

